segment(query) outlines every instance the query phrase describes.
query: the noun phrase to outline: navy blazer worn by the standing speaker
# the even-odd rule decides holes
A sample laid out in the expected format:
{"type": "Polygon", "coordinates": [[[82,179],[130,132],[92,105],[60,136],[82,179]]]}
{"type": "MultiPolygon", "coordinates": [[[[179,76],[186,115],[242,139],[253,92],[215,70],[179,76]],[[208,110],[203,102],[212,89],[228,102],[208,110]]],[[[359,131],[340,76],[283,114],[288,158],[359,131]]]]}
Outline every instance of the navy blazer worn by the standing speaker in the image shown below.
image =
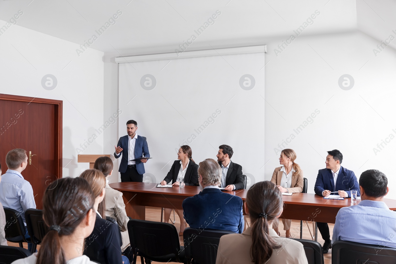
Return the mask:
{"type": "MultiPolygon", "coordinates": [[[[129,137],[128,135],[124,137],[120,137],[117,143],[117,146],[122,148],[122,158],[121,158],[120,168],[118,169],[118,171],[122,173],[126,172],[126,169],[128,168],[128,150],[129,150],[128,137],[129,137]]],[[[114,157],[118,159],[119,157],[121,157],[121,155],[117,156],[116,152],[114,151],[114,157]]],[[[150,153],[148,153],[148,145],[146,138],[137,135],[137,139],[135,142],[135,159],[142,157],[150,158],[150,153]]],[[[145,163],[141,161],[136,161],[136,170],[139,174],[145,174],[144,164],[145,163]]]]}

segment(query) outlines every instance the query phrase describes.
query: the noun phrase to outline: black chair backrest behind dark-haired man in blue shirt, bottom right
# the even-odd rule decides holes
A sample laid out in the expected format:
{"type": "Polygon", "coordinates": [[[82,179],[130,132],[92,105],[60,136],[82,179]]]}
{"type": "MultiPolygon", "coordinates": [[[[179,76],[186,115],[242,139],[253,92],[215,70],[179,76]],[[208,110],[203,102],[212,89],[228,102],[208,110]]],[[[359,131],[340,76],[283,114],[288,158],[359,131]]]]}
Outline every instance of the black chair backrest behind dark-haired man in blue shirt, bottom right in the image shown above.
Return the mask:
{"type": "Polygon", "coordinates": [[[350,241],[335,241],[331,249],[331,264],[347,263],[396,263],[396,249],[350,241]]]}

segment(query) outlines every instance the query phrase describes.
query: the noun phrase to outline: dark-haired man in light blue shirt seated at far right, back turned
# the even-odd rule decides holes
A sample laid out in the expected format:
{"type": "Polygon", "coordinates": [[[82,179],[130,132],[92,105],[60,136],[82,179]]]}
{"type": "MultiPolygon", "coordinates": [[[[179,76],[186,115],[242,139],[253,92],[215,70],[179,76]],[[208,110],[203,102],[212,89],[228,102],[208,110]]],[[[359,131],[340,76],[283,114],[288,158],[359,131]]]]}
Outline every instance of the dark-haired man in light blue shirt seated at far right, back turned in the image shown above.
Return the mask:
{"type": "Polygon", "coordinates": [[[360,175],[359,185],[362,201],[338,211],[332,243],[346,240],[396,248],[396,212],[383,202],[389,192],[388,179],[370,169],[360,175]]]}

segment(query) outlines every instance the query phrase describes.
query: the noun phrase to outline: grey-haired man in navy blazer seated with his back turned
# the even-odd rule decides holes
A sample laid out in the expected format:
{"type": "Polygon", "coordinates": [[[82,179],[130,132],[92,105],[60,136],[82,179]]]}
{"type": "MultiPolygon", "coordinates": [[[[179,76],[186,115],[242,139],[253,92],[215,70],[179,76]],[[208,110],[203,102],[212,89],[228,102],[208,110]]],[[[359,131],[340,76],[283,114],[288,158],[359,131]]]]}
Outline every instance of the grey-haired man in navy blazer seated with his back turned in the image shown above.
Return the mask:
{"type": "Polygon", "coordinates": [[[201,192],[183,201],[184,219],[191,228],[244,231],[242,198],[222,192],[221,167],[213,159],[199,163],[201,192]]]}

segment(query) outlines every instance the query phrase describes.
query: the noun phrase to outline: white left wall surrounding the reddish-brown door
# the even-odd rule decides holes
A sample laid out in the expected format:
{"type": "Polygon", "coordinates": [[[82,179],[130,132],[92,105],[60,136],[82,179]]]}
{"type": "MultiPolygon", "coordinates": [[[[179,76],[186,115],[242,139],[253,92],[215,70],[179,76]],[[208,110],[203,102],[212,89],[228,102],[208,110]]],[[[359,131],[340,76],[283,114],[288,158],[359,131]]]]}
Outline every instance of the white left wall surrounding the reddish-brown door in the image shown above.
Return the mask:
{"type": "MultiPolygon", "coordinates": [[[[78,47],[18,25],[0,36],[0,93],[63,101],[63,177],[76,177],[89,168],[88,163],[77,163],[76,148],[83,150],[80,144],[104,123],[103,52],[88,49],[78,57],[78,47]],[[46,74],[57,78],[51,91],[41,85],[46,74]]],[[[102,154],[103,135],[98,136],[80,154],[102,154]]]]}

